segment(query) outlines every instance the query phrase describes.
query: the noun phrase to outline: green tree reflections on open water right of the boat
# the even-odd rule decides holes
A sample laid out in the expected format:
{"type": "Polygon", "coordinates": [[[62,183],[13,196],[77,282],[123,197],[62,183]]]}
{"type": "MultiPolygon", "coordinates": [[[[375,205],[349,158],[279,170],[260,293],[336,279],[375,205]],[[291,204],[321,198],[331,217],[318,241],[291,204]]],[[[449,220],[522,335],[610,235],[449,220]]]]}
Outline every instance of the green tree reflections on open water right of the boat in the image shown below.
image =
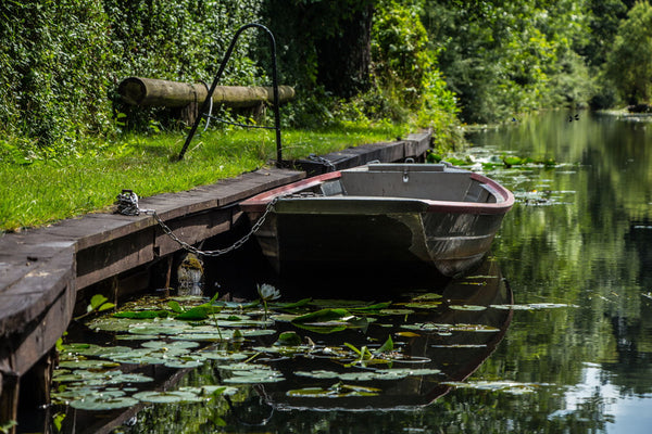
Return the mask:
{"type": "Polygon", "coordinates": [[[490,175],[522,199],[494,251],[517,302],[579,306],[515,315],[506,339],[513,349],[491,360],[517,360],[506,378],[537,379],[561,393],[541,426],[577,423],[589,411],[576,432],[648,432],[648,412],[636,409],[652,404],[652,125],[590,113],[565,123],[564,116],[552,112],[473,137],[480,148],[472,152],[560,163],[490,175]],[[523,200],[538,192],[553,200],[546,206],[523,200]]]}

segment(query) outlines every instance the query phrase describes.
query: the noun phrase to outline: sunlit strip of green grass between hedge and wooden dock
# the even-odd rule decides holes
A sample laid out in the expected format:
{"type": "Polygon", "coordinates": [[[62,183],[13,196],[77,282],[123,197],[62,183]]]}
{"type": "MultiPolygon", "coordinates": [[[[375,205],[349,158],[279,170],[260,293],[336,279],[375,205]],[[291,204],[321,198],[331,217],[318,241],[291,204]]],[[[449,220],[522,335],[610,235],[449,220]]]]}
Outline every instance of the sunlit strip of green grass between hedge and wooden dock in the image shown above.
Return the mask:
{"type": "MultiPolygon", "coordinates": [[[[353,145],[394,140],[404,126],[342,127],[335,130],[284,130],[284,159],[353,145]]],[[[24,161],[0,153],[0,231],[38,227],[106,209],[122,189],[140,197],[189,190],[273,165],[273,131],[230,129],[196,136],[186,156],[175,162],[185,133],[123,137],[86,143],[67,156],[24,161]],[[23,164],[18,164],[23,163],[23,164]]],[[[1,151],[1,150],[0,150],[1,151]]],[[[15,152],[14,152],[15,154],[15,152]]]]}

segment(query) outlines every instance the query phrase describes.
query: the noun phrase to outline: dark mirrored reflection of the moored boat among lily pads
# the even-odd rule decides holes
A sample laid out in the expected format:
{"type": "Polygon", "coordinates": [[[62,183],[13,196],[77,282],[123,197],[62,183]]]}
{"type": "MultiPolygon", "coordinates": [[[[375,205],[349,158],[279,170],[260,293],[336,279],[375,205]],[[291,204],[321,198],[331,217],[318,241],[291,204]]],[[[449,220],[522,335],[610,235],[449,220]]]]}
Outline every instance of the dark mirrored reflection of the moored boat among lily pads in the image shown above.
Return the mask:
{"type": "MultiPolygon", "coordinates": [[[[265,400],[285,411],[406,410],[430,404],[450,391],[451,386],[446,382],[465,380],[489,357],[503,339],[512,318],[509,306],[513,302],[512,292],[494,261],[486,261],[473,277],[451,281],[441,295],[443,302],[438,308],[417,308],[412,314],[388,315],[379,318],[377,323],[372,323],[365,333],[348,331],[333,336],[306,333],[314,342],[327,344],[329,341],[337,343],[343,340],[358,348],[383,343],[391,335],[404,356],[391,363],[392,369],[439,373],[406,375],[388,381],[375,375],[365,376],[374,368],[373,365],[354,369],[352,375],[352,369],[346,367],[351,360],[311,355],[285,358],[273,360],[271,365],[283,372],[288,381],[280,385],[263,385],[265,400]],[[297,374],[298,370],[301,375],[297,374]],[[354,380],[356,374],[363,379],[362,382],[354,380]],[[374,396],[342,398],[329,393],[334,384],[340,383],[341,387],[347,382],[378,392],[374,396]]],[[[408,298],[403,301],[406,302],[408,298]]]]}

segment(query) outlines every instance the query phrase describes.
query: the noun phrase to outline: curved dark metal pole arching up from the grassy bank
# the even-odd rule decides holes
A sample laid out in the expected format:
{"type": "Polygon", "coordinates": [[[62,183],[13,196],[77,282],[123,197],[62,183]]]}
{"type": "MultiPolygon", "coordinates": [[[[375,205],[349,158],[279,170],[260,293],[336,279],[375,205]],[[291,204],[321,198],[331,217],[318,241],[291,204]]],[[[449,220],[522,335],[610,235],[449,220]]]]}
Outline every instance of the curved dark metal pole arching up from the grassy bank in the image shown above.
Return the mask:
{"type": "Polygon", "coordinates": [[[201,122],[202,116],[206,113],[206,111],[209,108],[209,105],[213,98],[213,92],[215,92],[217,82],[220,81],[220,78],[222,77],[222,74],[224,73],[226,63],[228,62],[228,60],[230,59],[230,56],[233,54],[234,48],[236,47],[236,42],[238,41],[240,34],[242,34],[242,31],[244,31],[246,29],[251,28],[251,27],[258,27],[258,28],[264,30],[267,34],[267,37],[269,38],[269,43],[272,44],[272,81],[273,81],[273,88],[274,88],[274,129],[276,130],[276,167],[281,167],[281,165],[283,165],[283,152],[281,152],[283,146],[281,146],[281,142],[280,142],[280,114],[279,114],[279,110],[278,110],[278,76],[276,74],[276,40],[274,39],[274,35],[272,34],[272,31],[269,31],[269,29],[267,27],[263,26],[262,24],[258,24],[258,23],[246,24],[242,27],[240,27],[238,29],[238,31],[236,31],[236,35],[234,36],[231,43],[228,47],[228,50],[226,50],[224,60],[222,61],[222,64],[220,65],[217,75],[215,75],[215,79],[213,79],[213,84],[211,85],[211,88],[209,89],[206,99],[204,100],[204,102],[201,105],[200,115],[197,116],[197,119],[195,119],[195,123],[192,124],[192,127],[190,128],[190,132],[188,132],[188,137],[186,138],[186,142],[184,143],[184,148],[181,148],[181,152],[179,152],[179,155],[178,155],[179,161],[184,159],[184,155],[186,154],[186,151],[188,150],[188,145],[190,144],[190,142],[192,141],[192,138],[195,137],[195,133],[197,132],[199,123],[201,122]]]}

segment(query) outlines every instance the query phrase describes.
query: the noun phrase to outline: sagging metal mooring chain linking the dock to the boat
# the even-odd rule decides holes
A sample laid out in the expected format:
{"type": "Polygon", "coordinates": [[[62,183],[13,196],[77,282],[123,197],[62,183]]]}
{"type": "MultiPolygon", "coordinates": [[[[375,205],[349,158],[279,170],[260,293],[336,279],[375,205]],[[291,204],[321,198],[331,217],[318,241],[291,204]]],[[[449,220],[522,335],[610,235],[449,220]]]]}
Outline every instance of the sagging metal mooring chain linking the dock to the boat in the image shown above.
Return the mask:
{"type": "Polygon", "coordinates": [[[195,247],[193,245],[188,244],[184,240],[179,239],[172,231],[172,229],[167,225],[165,225],[165,222],[163,221],[163,219],[161,219],[161,217],[159,216],[159,214],[156,213],[155,209],[143,209],[143,208],[138,207],[138,195],[136,195],[136,193],[134,193],[131,190],[123,190],[123,192],[117,195],[117,213],[125,215],[125,216],[138,216],[140,214],[151,214],[156,219],[156,221],[159,222],[161,228],[163,229],[163,232],[165,232],[171,239],[173,239],[175,242],[177,242],[183,248],[185,248],[188,252],[191,252],[196,255],[199,255],[199,256],[216,257],[216,256],[226,255],[227,253],[230,253],[237,248],[240,248],[244,243],[247,243],[247,241],[249,241],[249,239],[253,234],[255,234],[255,232],[258,232],[258,230],[263,226],[263,224],[265,222],[265,218],[267,217],[267,215],[269,214],[269,212],[272,210],[274,205],[276,205],[276,202],[278,202],[278,200],[281,197],[284,197],[284,196],[276,196],[267,204],[263,215],[251,227],[251,230],[247,234],[244,234],[244,237],[242,237],[241,239],[236,241],[233,245],[230,245],[226,248],[221,248],[221,250],[215,250],[215,251],[202,251],[202,250],[195,247]]]}

